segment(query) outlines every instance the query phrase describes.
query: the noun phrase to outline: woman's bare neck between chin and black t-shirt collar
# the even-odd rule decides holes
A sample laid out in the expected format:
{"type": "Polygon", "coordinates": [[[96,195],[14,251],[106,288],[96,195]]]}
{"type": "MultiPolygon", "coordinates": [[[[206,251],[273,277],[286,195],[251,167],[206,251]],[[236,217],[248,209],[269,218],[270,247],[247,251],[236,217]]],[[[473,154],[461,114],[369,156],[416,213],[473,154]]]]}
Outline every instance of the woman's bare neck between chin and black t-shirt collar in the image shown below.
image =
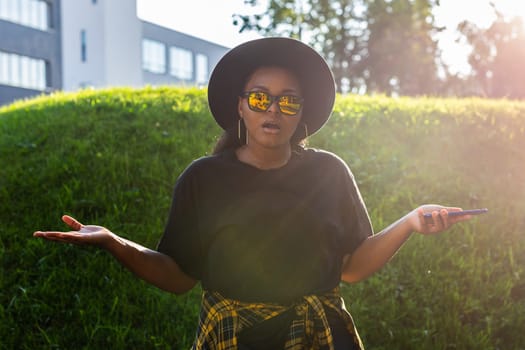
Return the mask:
{"type": "Polygon", "coordinates": [[[237,159],[262,170],[283,167],[290,160],[292,148],[290,145],[279,148],[263,148],[241,146],[235,150],[237,159]]]}

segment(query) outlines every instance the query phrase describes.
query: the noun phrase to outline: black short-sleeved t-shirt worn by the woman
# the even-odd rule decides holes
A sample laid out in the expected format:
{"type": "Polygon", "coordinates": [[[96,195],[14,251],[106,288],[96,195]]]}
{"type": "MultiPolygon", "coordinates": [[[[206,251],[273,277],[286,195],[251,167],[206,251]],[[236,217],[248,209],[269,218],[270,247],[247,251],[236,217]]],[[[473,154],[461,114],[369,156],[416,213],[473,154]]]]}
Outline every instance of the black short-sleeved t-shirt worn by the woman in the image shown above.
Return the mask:
{"type": "Polygon", "coordinates": [[[228,150],[181,174],[158,251],[227,298],[289,302],[336,287],[343,256],[372,232],[353,175],[332,153],[305,149],[261,170],[228,150]]]}

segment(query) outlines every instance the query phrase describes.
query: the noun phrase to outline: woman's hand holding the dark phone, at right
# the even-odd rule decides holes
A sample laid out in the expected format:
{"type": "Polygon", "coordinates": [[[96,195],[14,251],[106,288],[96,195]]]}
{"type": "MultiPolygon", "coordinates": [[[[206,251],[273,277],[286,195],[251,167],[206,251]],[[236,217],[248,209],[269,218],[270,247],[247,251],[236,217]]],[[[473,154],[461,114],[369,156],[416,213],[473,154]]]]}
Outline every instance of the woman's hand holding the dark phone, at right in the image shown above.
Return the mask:
{"type": "Polygon", "coordinates": [[[422,205],[409,214],[409,221],[415,232],[422,234],[434,234],[447,230],[450,226],[460,221],[467,221],[472,215],[449,216],[449,212],[460,211],[461,208],[444,207],[441,205],[422,205]],[[431,213],[431,218],[425,218],[424,214],[431,213]]]}

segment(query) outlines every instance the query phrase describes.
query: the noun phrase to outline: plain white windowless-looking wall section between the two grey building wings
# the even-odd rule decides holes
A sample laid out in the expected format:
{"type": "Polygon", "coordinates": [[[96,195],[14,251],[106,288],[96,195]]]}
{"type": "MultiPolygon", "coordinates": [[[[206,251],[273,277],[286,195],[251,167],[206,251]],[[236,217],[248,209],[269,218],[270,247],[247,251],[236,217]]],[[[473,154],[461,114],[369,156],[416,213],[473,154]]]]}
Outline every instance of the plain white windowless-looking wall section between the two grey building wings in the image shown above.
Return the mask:
{"type": "Polygon", "coordinates": [[[142,85],[141,24],[135,0],[67,1],[62,14],[64,90],[142,85]]]}

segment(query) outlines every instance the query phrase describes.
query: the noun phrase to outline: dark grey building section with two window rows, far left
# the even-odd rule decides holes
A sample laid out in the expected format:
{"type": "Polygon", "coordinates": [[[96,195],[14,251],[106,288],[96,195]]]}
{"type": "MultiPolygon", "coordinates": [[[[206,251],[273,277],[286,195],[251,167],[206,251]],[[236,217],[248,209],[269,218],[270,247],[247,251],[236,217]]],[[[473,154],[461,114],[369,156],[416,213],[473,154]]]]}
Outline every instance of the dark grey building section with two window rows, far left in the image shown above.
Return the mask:
{"type": "Polygon", "coordinates": [[[0,0],[0,105],[62,88],[60,0],[0,0]]]}

